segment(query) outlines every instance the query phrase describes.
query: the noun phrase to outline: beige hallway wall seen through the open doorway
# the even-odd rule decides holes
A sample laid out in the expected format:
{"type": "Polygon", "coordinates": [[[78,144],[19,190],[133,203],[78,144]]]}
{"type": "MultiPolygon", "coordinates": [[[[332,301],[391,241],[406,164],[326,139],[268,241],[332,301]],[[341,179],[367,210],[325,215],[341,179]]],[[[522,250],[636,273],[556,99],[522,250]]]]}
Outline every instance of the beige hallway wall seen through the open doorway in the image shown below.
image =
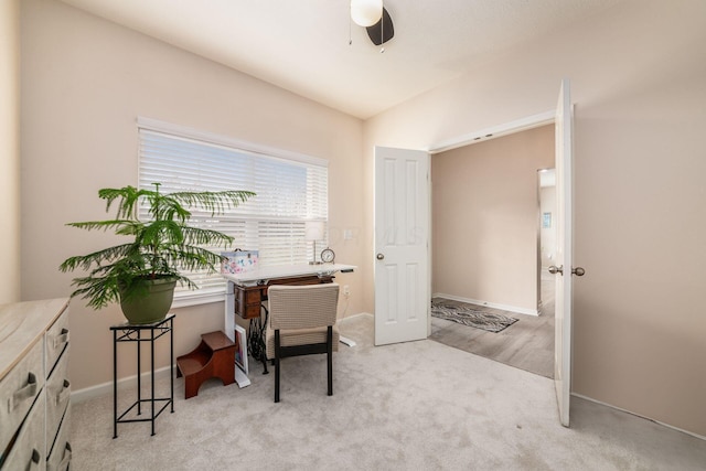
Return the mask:
{"type": "Polygon", "coordinates": [[[554,125],[431,157],[431,291],[537,312],[537,170],[554,125]]]}

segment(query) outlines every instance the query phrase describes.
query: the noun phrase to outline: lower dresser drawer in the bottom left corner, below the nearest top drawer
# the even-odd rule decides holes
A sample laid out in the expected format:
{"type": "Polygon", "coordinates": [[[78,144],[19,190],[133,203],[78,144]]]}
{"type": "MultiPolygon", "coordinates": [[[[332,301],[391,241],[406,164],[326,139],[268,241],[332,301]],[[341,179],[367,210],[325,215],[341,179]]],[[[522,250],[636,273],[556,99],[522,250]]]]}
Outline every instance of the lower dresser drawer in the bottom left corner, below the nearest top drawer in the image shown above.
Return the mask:
{"type": "Polygon", "coordinates": [[[2,469],[42,470],[46,462],[44,450],[44,392],[42,390],[30,415],[22,424],[18,439],[2,463],[2,469]]]}

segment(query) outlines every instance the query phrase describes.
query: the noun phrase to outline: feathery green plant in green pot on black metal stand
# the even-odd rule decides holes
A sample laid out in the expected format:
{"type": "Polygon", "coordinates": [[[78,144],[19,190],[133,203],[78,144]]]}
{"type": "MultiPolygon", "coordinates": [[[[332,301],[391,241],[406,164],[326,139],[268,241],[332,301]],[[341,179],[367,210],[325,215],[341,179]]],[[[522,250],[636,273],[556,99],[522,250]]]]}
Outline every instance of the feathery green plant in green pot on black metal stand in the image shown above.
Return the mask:
{"type": "Polygon", "coordinates": [[[88,306],[101,309],[119,302],[130,323],[151,323],[164,319],[171,308],[174,287],[185,285],[197,288],[181,270],[207,269],[215,271],[222,257],[203,246],[227,247],[233,237],[217,231],[189,225],[191,212],[200,207],[212,215],[236,207],[255,193],[248,191],[174,192],[161,193],[160,184],[153,189],[133,186],[103,189],[98,197],[106,200],[106,212],[117,201],[115,220],[69,223],[82,229],[111,229],[130,240],[87,255],[64,260],[60,269],[88,270],[74,278],[81,296],[88,306]],[[139,218],[140,205],[147,205],[148,218],[139,218]]]}

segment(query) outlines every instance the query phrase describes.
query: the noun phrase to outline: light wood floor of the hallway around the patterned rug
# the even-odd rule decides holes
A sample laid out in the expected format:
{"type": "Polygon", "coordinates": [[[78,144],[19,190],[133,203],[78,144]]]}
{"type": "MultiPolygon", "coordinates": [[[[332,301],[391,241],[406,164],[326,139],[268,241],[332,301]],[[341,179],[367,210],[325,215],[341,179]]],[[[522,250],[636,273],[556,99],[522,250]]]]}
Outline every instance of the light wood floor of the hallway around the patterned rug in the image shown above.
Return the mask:
{"type": "MultiPolygon", "coordinates": [[[[520,321],[493,333],[431,318],[429,339],[537,375],[554,377],[554,278],[543,276],[542,315],[482,308],[520,321]]],[[[478,306],[469,304],[479,309],[478,306]]]]}

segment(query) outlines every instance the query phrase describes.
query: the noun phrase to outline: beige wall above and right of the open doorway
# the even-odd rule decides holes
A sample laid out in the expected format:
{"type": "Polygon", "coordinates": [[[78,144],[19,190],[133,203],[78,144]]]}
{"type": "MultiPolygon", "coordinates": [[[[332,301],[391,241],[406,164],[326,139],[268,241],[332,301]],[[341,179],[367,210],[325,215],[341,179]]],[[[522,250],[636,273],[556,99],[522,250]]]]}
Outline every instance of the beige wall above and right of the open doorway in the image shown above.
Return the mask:
{"type": "Polygon", "coordinates": [[[574,283],[573,390],[700,436],[704,44],[706,2],[619,4],[366,121],[364,136],[372,227],[373,144],[424,149],[544,113],[569,77],[575,260],[586,268],[574,283]]]}

